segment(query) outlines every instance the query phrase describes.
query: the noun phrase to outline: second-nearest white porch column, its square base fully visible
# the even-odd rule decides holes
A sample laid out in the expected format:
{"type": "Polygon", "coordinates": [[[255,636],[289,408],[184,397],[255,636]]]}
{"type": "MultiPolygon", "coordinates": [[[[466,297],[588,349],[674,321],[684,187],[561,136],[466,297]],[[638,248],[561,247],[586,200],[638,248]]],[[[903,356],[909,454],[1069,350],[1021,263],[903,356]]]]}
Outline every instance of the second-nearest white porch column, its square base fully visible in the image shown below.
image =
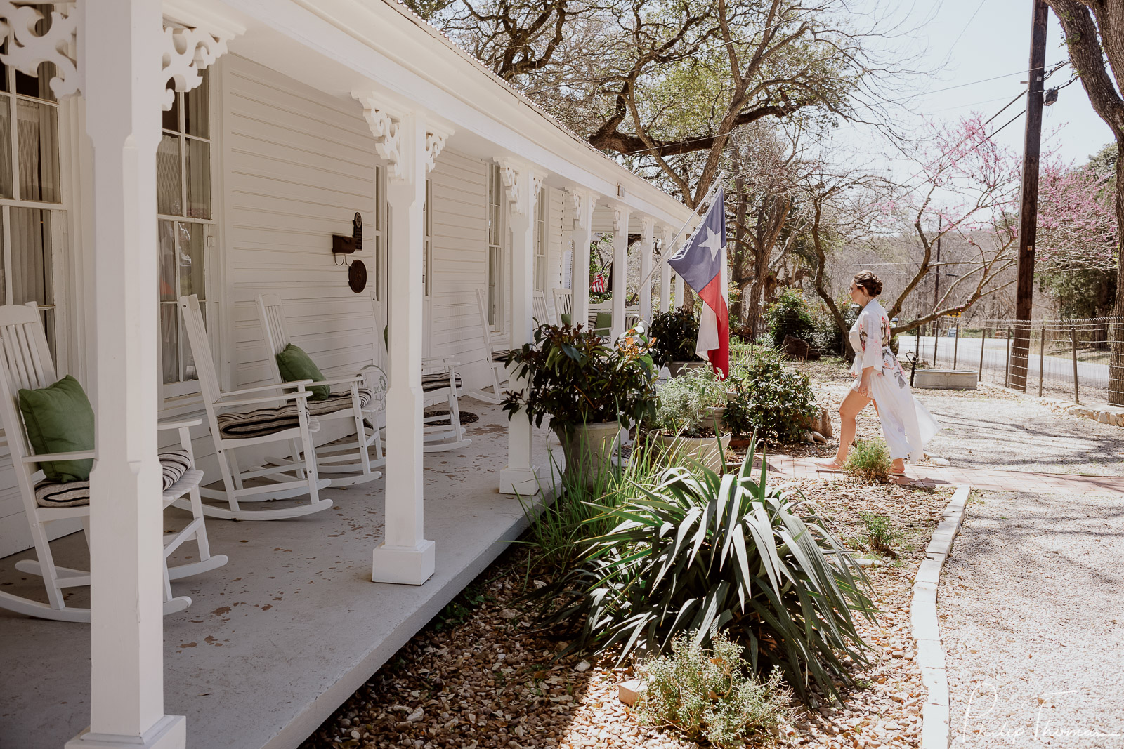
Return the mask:
{"type": "Polygon", "coordinates": [[[425,538],[422,423],[422,207],[427,164],[425,118],[388,109],[375,95],[356,94],[387,161],[390,211],[388,317],[390,390],[387,435],[393,440],[386,467],[386,523],[371,556],[375,583],[420,585],[434,572],[434,542],[425,538]]]}

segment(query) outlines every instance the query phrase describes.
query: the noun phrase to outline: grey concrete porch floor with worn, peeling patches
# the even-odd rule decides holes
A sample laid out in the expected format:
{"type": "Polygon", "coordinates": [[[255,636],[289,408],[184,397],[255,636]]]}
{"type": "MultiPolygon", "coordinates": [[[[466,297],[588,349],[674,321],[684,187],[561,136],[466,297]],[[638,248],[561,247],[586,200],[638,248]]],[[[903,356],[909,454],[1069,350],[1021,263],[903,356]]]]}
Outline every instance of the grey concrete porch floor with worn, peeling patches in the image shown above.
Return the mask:
{"type": "MultiPolygon", "coordinates": [[[[173,582],[192,604],[164,618],[165,712],[187,715],[188,747],[298,747],[524,530],[519,500],[497,488],[506,415],[470,399],[462,409],[480,417],[466,427],[472,444],[426,456],[426,538],[437,558],[425,585],[371,582],[381,478],[328,487],[335,506],[306,518],[208,520],[211,551],[229,561],[173,582]]],[[[549,433],[534,438],[544,476],[549,433]]],[[[392,459],[392,441],[388,451],[392,459]]],[[[165,515],[169,527],[187,517],[165,515]]],[[[80,533],[53,548],[58,564],[85,567],[80,533]]],[[[0,559],[0,585],[46,601],[42,583],[15,569],[28,557],[0,559]]],[[[69,603],[88,605],[87,591],[73,591],[69,603]]],[[[0,611],[0,747],[61,748],[89,725],[89,625],[0,611]]]]}

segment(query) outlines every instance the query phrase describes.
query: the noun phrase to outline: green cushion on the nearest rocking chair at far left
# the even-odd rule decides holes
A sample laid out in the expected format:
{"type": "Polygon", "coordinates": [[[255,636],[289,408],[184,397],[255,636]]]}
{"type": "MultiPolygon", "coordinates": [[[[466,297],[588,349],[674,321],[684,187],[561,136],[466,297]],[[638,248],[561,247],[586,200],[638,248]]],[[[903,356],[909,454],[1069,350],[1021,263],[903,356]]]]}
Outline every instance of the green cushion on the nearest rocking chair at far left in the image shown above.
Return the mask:
{"type": "MultiPolygon", "coordinates": [[[[36,455],[93,449],[93,408],[78,380],[66,375],[54,385],[19,391],[27,441],[36,455]]],[[[89,481],[93,459],[40,463],[47,481],[89,481]]]]}

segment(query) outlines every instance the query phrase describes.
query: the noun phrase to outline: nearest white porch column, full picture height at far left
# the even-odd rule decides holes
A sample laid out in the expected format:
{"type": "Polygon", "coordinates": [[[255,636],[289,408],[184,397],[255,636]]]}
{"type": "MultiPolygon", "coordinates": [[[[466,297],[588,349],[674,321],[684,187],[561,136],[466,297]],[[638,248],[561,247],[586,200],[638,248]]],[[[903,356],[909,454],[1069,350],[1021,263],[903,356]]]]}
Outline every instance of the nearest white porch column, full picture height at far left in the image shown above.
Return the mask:
{"type": "Polygon", "coordinates": [[[182,749],[185,719],[164,714],[164,519],[156,459],[156,146],[165,37],[158,2],[92,6],[85,3],[79,45],[94,201],[92,688],[90,728],[66,746],[182,749]]]}

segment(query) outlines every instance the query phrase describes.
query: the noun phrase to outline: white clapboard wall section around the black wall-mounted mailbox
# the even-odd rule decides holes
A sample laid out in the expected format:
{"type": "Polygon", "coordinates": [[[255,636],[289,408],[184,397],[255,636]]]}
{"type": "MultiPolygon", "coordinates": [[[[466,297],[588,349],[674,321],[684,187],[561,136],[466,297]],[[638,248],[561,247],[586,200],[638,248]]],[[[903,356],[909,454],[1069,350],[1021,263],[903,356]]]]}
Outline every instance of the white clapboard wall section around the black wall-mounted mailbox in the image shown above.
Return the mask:
{"type": "Polygon", "coordinates": [[[351,234],[356,211],[364,227],[375,226],[379,159],[362,110],[236,56],[226,61],[224,104],[232,381],[250,387],[271,376],[262,293],[281,296],[293,342],[320,371],[357,372],[375,351],[374,243],[351,256],[371,274],[359,294],[330,249],[333,234],[351,234]]]}

